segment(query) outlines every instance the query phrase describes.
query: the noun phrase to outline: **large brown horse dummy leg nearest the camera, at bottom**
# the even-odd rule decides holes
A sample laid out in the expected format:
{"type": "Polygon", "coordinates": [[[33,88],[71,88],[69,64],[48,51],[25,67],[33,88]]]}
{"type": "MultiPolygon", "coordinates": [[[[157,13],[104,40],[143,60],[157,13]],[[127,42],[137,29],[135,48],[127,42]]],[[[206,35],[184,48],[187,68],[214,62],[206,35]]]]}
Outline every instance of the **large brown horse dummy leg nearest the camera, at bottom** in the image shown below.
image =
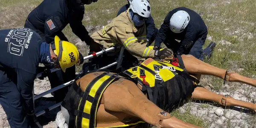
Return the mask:
{"type": "Polygon", "coordinates": [[[157,128],[199,128],[183,122],[157,107],[132,81],[119,79],[103,93],[104,108],[108,111],[128,113],[157,128]]]}

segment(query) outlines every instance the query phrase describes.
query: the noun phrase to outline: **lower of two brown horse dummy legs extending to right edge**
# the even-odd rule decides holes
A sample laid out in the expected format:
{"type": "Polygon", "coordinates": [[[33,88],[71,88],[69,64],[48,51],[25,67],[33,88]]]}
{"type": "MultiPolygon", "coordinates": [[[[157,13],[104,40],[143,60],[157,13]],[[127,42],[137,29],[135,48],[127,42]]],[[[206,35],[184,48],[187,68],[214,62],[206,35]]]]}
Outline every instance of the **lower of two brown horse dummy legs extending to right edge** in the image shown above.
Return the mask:
{"type": "Polygon", "coordinates": [[[224,96],[213,93],[204,87],[196,87],[192,93],[191,99],[208,100],[216,102],[223,106],[239,106],[242,108],[248,108],[256,112],[256,105],[250,102],[243,102],[232,98],[231,96],[224,96]]]}

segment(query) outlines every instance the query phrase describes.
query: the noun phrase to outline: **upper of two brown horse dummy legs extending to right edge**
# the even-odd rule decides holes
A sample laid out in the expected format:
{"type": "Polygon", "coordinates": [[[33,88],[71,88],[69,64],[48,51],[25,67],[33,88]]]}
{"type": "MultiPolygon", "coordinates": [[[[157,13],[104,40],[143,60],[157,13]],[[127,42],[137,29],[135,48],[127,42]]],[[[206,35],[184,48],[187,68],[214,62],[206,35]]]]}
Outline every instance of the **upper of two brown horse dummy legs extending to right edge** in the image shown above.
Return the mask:
{"type": "Polygon", "coordinates": [[[189,73],[198,74],[198,75],[216,76],[221,79],[225,78],[226,81],[241,82],[241,83],[249,84],[253,87],[256,87],[255,79],[250,79],[248,77],[241,76],[238,73],[229,72],[227,70],[214,67],[210,64],[200,61],[199,59],[195,58],[192,55],[181,55],[181,57],[184,62],[184,66],[186,67],[186,70],[189,73]]]}

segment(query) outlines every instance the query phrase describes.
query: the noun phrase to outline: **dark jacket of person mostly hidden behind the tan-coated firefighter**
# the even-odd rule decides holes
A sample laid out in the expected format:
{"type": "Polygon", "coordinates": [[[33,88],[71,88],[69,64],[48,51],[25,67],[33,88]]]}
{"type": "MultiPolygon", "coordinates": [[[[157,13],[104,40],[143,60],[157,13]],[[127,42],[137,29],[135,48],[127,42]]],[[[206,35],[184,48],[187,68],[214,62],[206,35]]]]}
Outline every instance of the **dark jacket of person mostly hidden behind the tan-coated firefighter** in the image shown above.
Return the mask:
{"type": "MultiPolygon", "coordinates": [[[[130,7],[130,4],[126,4],[124,6],[121,7],[121,9],[117,12],[117,15],[120,15],[122,12],[125,12],[128,8],[130,7]]],[[[154,24],[154,19],[153,17],[149,17],[146,20],[146,29],[147,29],[147,39],[150,40],[150,38],[154,35],[154,31],[155,31],[155,24],[154,24]]]]}

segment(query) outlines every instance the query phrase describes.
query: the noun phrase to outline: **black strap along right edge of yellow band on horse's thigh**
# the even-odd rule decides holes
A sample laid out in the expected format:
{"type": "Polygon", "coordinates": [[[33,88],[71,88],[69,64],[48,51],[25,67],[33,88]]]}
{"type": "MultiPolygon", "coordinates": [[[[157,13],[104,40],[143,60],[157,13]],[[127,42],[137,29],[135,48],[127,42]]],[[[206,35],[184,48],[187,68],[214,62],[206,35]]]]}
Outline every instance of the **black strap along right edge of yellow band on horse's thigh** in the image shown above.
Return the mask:
{"type": "Polygon", "coordinates": [[[109,83],[113,79],[116,79],[117,76],[118,76],[118,74],[113,74],[111,77],[109,77],[107,80],[105,80],[100,85],[98,90],[96,91],[96,94],[94,96],[93,102],[91,102],[92,103],[92,107],[90,109],[89,128],[95,128],[95,126],[96,126],[96,112],[97,112],[96,108],[98,107],[98,102],[99,102],[99,99],[101,97],[101,94],[102,94],[103,90],[105,90],[105,88],[109,85],[109,83]]]}

